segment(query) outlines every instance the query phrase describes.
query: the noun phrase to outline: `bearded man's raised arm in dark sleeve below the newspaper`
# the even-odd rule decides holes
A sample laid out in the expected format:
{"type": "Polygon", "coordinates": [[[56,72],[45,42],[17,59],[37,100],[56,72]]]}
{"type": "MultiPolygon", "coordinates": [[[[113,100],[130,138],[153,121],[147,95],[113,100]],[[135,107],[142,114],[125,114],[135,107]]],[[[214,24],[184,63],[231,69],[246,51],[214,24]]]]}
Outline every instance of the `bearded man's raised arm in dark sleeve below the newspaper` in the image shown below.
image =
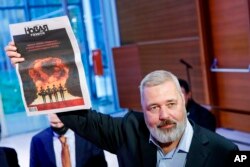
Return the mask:
{"type": "Polygon", "coordinates": [[[57,115],[67,127],[99,148],[115,153],[123,143],[122,118],[113,118],[94,110],[63,112],[57,115]]]}

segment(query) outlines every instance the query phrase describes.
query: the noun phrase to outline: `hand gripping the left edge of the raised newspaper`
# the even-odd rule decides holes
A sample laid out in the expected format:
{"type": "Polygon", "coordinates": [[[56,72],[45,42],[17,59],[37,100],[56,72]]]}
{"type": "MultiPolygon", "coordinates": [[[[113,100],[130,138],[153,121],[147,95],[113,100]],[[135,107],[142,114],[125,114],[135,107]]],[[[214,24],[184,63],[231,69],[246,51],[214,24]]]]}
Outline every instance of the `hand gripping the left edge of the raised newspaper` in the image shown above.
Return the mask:
{"type": "Polygon", "coordinates": [[[21,54],[17,52],[17,47],[13,41],[9,42],[9,44],[5,47],[5,52],[13,65],[24,61],[21,54]]]}

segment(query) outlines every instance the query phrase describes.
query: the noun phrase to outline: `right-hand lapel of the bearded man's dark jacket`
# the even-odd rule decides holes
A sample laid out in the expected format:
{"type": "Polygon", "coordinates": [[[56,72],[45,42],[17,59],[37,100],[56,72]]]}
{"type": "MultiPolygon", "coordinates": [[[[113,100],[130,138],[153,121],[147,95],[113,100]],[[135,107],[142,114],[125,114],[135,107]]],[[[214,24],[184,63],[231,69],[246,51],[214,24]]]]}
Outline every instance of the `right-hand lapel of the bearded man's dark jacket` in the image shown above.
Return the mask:
{"type": "Polygon", "coordinates": [[[192,138],[189,153],[187,155],[186,167],[202,167],[210,154],[207,145],[209,140],[200,128],[193,124],[194,135],[192,138]]]}

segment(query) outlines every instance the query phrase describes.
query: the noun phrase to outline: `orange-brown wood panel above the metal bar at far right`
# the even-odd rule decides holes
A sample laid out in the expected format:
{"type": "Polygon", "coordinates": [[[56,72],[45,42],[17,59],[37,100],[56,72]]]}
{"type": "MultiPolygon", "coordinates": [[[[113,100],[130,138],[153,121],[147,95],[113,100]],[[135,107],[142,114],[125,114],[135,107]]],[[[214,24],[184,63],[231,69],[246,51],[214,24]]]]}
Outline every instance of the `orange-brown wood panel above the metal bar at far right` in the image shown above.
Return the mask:
{"type": "Polygon", "coordinates": [[[247,68],[250,62],[248,1],[209,2],[213,56],[220,67],[247,68]]]}

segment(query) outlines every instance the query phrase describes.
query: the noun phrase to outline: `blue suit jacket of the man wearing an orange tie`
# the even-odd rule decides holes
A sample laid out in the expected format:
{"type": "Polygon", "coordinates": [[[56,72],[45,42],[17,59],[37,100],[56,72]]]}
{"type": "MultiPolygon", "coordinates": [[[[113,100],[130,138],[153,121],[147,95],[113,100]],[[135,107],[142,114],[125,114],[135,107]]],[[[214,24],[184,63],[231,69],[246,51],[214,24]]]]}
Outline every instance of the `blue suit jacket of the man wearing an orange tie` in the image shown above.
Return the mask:
{"type": "MultiPolygon", "coordinates": [[[[75,135],[76,167],[106,167],[103,150],[75,135]]],[[[33,136],[30,147],[30,167],[56,167],[53,131],[47,128],[33,136]]]]}

